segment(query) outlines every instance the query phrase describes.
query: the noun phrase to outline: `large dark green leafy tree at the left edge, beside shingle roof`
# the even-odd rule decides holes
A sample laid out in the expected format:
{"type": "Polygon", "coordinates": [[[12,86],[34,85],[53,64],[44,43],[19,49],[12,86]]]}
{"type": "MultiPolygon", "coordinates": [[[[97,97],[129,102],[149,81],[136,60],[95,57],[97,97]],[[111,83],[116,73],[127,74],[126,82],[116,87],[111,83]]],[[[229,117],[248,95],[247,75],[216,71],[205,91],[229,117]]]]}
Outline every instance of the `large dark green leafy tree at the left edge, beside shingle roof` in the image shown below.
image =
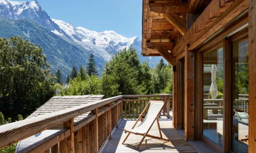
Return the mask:
{"type": "Polygon", "coordinates": [[[27,116],[53,95],[54,76],[43,49],[18,36],[0,38],[0,78],[0,111],[6,117],[27,116]]]}

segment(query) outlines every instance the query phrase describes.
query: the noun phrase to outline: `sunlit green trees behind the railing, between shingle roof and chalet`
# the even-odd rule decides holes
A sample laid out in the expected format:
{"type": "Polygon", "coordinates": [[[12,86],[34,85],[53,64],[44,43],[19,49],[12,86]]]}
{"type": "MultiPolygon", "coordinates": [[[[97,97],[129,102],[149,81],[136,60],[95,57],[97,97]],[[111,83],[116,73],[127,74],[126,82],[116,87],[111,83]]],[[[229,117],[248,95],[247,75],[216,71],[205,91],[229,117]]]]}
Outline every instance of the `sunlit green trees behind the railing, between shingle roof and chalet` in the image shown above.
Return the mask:
{"type": "MultiPolygon", "coordinates": [[[[72,74],[71,74],[72,76],[72,74]]],[[[67,85],[55,84],[56,95],[104,94],[116,95],[172,93],[172,67],[161,59],[155,69],[148,62],[141,63],[134,48],[124,49],[106,63],[102,77],[88,76],[79,68],[77,77],[67,85]]]]}

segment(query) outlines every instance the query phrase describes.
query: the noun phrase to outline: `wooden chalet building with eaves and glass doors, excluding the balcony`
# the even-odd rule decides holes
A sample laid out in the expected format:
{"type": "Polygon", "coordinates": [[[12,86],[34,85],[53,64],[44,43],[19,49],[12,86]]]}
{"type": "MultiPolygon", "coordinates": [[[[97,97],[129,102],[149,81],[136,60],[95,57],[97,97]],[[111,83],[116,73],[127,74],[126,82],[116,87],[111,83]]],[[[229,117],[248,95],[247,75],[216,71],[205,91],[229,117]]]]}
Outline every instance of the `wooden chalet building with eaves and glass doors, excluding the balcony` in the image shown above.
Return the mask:
{"type": "Polygon", "coordinates": [[[217,152],[256,152],[256,2],[143,0],[142,55],[173,66],[173,127],[217,152]]]}

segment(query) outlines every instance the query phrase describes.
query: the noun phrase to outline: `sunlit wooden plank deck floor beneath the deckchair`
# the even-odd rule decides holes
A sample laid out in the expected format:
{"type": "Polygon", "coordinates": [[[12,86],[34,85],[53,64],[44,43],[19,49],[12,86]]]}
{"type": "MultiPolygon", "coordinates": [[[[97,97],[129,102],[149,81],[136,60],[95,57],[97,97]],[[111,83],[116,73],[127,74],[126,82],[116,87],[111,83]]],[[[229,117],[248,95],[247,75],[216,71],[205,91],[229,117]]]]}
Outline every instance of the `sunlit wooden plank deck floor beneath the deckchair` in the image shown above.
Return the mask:
{"type": "MultiPolygon", "coordinates": [[[[112,133],[112,139],[108,140],[106,145],[101,150],[101,153],[105,152],[118,152],[118,153],[195,153],[197,152],[184,138],[179,134],[179,132],[172,128],[172,120],[170,119],[159,119],[162,135],[164,138],[168,138],[169,142],[164,142],[157,139],[152,139],[146,137],[147,144],[145,140],[140,146],[139,150],[131,146],[123,145],[124,137],[127,135],[123,132],[123,128],[131,128],[135,123],[135,119],[121,119],[118,128],[112,133]]],[[[149,134],[159,136],[159,131],[157,124],[155,123],[151,128],[149,134]]],[[[132,146],[137,146],[140,142],[142,136],[131,134],[126,143],[131,144],[132,146]]]]}

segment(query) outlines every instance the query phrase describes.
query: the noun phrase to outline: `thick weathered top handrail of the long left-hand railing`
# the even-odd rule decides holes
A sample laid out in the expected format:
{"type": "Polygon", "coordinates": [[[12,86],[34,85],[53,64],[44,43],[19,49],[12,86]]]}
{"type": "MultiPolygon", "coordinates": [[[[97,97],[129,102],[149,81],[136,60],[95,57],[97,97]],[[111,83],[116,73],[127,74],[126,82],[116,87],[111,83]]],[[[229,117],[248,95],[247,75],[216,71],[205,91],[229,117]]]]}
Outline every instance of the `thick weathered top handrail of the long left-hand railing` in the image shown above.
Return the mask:
{"type": "Polygon", "coordinates": [[[123,98],[123,96],[106,98],[89,104],[75,106],[57,112],[2,125],[0,126],[0,148],[28,138],[38,132],[52,128],[55,125],[69,120],[70,118],[77,117],[120,98],[123,98]]]}

